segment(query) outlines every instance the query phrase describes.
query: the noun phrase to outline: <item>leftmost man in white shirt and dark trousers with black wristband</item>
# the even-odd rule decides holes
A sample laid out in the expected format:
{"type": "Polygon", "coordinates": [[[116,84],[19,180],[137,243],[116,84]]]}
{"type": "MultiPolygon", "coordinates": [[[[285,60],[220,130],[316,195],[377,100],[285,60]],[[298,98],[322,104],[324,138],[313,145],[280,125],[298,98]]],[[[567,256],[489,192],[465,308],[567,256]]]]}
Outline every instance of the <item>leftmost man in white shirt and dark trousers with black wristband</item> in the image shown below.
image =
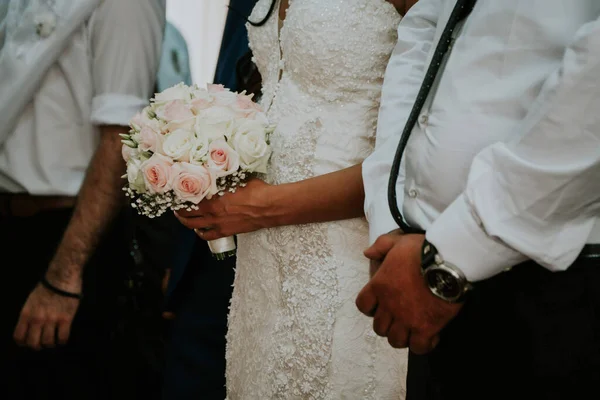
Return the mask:
{"type": "Polygon", "coordinates": [[[152,95],[165,1],[15,0],[3,8],[0,235],[11,287],[3,393],[115,398],[111,370],[123,366],[106,364],[106,314],[122,286],[116,272],[132,262],[117,218],[125,205],[118,134],[152,95]],[[8,344],[13,335],[21,350],[8,344]]]}

